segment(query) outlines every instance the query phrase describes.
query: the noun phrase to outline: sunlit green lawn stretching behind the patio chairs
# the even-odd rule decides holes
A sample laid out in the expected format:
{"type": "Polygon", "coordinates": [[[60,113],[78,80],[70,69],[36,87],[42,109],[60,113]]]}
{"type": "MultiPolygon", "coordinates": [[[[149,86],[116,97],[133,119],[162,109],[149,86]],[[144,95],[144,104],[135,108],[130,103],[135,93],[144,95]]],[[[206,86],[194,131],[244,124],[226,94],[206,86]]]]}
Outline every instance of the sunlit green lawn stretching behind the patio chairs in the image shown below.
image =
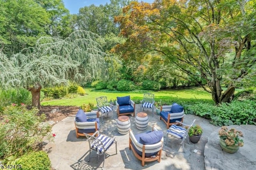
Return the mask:
{"type": "MultiPolygon", "coordinates": [[[[92,103],[96,106],[96,98],[100,96],[106,96],[108,101],[115,99],[116,97],[122,97],[130,95],[131,99],[135,103],[139,103],[143,99],[144,93],[153,93],[155,95],[155,101],[165,102],[170,104],[172,102],[208,102],[213,103],[212,96],[200,87],[192,87],[189,89],[168,89],[161,91],[132,91],[132,92],[120,92],[120,91],[96,91],[94,88],[84,88],[86,95],[77,97],[75,99],[54,99],[50,101],[42,101],[41,105],[61,105],[61,106],[81,106],[82,104],[92,103]]],[[[236,89],[236,92],[240,89],[236,89]]]]}

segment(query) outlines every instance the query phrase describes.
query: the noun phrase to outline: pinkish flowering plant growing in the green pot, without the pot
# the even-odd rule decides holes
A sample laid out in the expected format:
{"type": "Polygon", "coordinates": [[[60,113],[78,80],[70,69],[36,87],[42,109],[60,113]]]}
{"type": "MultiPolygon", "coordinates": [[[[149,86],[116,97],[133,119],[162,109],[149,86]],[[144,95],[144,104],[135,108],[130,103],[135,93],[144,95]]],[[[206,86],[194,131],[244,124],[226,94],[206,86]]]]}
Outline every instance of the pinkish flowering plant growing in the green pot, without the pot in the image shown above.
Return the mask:
{"type": "Polygon", "coordinates": [[[227,146],[244,146],[244,141],[239,137],[243,137],[243,133],[235,128],[221,127],[219,136],[223,139],[227,146]]]}

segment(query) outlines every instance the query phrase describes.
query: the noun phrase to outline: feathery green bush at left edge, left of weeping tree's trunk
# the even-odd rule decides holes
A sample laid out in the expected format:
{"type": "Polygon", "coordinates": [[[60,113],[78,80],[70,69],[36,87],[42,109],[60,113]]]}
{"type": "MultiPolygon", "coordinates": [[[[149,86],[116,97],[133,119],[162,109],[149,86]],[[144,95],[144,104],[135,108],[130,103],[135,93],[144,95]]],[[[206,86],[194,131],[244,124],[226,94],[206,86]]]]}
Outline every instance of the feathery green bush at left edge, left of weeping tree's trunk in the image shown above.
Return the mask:
{"type": "Polygon", "coordinates": [[[24,88],[0,89],[0,106],[5,107],[15,103],[17,105],[30,104],[31,93],[24,88]]]}

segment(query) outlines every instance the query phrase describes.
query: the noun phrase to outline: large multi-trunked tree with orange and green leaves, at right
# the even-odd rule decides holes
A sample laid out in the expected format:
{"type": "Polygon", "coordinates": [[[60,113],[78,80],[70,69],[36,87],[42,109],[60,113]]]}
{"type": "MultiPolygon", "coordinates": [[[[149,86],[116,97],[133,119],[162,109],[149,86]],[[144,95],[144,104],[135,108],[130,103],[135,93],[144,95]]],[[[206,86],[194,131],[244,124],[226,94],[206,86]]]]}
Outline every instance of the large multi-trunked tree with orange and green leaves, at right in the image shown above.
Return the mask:
{"type": "Polygon", "coordinates": [[[212,94],[216,105],[229,102],[234,96],[234,81],[245,76],[253,65],[248,65],[252,59],[241,55],[249,38],[255,40],[252,6],[255,1],[156,0],[152,5],[132,2],[123,9],[123,15],[116,17],[122,35],[128,38],[116,51],[137,61],[145,53],[157,52],[172,65],[171,69],[190,77],[200,73],[210,90],[201,85],[212,94]],[[232,48],[236,57],[230,62],[226,54],[232,48]],[[246,68],[239,67],[241,59],[246,68]],[[223,91],[222,76],[231,68],[239,74],[229,75],[230,85],[223,91]]]}

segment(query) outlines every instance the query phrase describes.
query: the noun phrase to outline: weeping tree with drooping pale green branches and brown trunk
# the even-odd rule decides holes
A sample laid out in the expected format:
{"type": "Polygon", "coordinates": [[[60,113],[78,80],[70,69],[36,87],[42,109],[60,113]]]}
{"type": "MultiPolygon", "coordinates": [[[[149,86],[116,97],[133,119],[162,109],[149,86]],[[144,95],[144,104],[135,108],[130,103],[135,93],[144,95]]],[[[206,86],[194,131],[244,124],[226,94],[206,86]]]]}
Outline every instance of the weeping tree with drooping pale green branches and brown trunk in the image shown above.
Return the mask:
{"type": "Polygon", "coordinates": [[[106,53],[97,42],[99,39],[97,34],[78,30],[64,40],[42,37],[35,47],[10,58],[0,53],[0,85],[28,89],[32,105],[40,109],[42,87],[106,77],[106,53]]]}

